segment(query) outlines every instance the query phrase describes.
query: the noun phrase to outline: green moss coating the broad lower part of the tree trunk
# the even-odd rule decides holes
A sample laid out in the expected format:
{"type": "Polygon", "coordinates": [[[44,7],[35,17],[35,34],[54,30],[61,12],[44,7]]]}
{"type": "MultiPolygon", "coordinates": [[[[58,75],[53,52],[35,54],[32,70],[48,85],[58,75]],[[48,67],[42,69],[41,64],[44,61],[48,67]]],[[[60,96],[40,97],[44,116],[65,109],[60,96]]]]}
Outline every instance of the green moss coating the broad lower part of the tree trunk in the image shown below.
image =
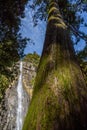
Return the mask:
{"type": "Polygon", "coordinates": [[[73,61],[63,59],[60,45],[53,44],[51,49],[50,54],[41,59],[23,130],[53,130],[56,124],[61,128],[62,123],[68,127],[73,122],[70,113],[80,110],[76,81],[79,67],[73,61]]]}

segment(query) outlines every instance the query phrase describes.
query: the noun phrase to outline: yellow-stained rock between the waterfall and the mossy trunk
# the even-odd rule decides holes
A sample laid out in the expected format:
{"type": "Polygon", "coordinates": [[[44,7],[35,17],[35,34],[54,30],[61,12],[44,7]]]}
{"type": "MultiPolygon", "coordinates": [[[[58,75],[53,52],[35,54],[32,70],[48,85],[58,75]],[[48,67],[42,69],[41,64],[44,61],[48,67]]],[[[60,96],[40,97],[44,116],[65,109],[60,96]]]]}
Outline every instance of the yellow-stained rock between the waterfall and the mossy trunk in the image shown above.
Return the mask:
{"type": "Polygon", "coordinates": [[[29,99],[32,98],[33,86],[36,77],[37,67],[30,62],[23,62],[23,85],[26,89],[29,99]]]}

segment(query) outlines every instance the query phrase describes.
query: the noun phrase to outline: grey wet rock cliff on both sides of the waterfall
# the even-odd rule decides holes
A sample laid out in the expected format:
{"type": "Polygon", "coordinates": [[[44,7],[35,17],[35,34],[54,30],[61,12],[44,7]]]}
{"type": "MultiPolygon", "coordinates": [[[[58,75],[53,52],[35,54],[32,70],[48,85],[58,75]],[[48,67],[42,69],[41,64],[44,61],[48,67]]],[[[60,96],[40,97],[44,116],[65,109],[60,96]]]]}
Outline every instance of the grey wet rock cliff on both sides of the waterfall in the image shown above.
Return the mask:
{"type": "MultiPolygon", "coordinates": [[[[32,98],[34,78],[36,76],[36,67],[29,62],[23,62],[23,121],[26,116],[29,102],[32,98]]],[[[6,90],[4,99],[0,104],[0,130],[16,130],[17,116],[17,84],[18,78],[6,90]]]]}

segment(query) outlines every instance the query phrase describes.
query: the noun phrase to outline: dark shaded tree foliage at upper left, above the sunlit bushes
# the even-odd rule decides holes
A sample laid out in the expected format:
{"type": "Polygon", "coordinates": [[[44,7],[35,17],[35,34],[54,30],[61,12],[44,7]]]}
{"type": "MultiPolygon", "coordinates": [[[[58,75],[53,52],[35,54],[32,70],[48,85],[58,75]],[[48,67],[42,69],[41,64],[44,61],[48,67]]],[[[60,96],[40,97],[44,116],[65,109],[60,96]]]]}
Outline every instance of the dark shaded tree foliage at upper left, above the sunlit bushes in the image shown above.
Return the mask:
{"type": "Polygon", "coordinates": [[[23,55],[26,46],[26,38],[18,33],[21,25],[21,17],[24,17],[24,8],[27,0],[1,0],[0,1],[0,66],[7,66],[10,62],[19,59],[23,55]],[[2,62],[1,62],[2,61],[2,62]]]}

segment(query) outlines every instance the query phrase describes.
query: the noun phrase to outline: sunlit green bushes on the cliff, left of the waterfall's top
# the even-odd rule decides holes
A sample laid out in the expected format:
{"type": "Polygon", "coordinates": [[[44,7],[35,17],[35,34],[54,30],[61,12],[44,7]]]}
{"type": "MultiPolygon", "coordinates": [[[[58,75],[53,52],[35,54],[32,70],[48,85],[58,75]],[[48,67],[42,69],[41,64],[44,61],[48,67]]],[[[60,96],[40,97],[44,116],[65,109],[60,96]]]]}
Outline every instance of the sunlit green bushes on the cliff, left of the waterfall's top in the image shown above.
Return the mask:
{"type": "MultiPolygon", "coordinates": [[[[6,64],[5,64],[6,65],[6,64]]],[[[4,69],[0,71],[0,101],[4,97],[5,91],[9,85],[16,79],[19,73],[19,67],[17,63],[14,63],[12,66],[7,67],[4,65],[4,69]]]]}

